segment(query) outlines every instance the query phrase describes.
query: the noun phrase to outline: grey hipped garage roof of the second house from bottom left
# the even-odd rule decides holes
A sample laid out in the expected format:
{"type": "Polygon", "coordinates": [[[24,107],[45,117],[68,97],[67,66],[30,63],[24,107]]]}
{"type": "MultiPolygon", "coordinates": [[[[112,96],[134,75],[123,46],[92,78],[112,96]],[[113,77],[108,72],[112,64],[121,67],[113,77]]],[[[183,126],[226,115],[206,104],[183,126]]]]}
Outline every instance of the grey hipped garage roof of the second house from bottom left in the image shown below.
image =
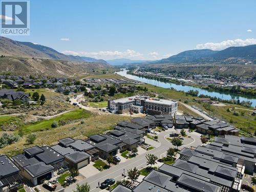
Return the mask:
{"type": "Polygon", "coordinates": [[[24,167],[24,169],[31,175],[32,177],[36,177],[42,174],[46,174],[51,172],[54,168],[51,165],[46,165],[44,162],[38,162],[33,165],[28,165],[24,167]]]}

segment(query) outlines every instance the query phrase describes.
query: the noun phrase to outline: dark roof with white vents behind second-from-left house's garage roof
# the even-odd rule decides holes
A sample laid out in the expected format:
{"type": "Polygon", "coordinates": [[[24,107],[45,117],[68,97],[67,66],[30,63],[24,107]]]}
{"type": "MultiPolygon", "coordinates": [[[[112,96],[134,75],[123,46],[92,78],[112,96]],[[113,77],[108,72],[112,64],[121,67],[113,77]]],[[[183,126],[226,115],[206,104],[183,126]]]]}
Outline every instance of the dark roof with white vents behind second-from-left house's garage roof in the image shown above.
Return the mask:
{"type": "Polygon", "coordinates": [[[45,162],[46,164],[55,163],[58,161],[61,161],[64,159],[62,155],[55,152],[51,147],[44,146],[42,147],[42,150],[44,150],[43,153],[37,154],[37,159],[40,159],[41,161],[45,162]]]}

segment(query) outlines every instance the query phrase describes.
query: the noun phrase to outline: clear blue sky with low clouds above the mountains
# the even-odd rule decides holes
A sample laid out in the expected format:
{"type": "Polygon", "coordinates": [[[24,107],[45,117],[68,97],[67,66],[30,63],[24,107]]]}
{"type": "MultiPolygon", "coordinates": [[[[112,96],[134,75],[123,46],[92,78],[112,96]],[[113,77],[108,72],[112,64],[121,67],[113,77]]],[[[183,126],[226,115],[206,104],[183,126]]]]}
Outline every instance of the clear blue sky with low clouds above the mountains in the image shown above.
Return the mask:
{"type": "Polygon", "coordinates": [[[30,35],[7,37],[65,54],[156,60],[256,44],[255,7],[255,0],[31,0],[30,35]]]}

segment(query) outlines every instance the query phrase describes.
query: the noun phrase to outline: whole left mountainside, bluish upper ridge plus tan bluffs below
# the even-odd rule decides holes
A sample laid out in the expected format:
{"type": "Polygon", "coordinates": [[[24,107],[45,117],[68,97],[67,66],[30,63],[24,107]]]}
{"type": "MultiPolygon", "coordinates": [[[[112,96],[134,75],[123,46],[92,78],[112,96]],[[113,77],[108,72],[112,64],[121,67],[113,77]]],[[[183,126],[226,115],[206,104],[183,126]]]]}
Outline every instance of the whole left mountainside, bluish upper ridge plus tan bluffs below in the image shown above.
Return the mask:
{"type": "Polygon", "coordinates": [[[0,73],[16,75],[74,76],[112,69],[104,60],[65,55],[56,50],[0,37],[0,73]]]}

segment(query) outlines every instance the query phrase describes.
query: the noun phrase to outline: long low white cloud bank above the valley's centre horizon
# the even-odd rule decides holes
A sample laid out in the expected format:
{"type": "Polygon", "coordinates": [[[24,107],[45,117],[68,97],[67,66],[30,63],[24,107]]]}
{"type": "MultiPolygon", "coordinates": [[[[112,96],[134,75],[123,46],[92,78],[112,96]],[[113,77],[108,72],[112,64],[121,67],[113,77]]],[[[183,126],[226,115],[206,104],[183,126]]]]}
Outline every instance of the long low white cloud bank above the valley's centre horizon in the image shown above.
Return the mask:
{"type": "Polygon", "coordinates": [[[143,54],[136,52],[131,49],[127,49],[126,51],[98,51],[98,52],[86,52],[86,51],[63,51],[61,53],[71,54],[71,55],[79,55],[79,56],[88,56],[95,58],[143,58],[143,54]]]}

